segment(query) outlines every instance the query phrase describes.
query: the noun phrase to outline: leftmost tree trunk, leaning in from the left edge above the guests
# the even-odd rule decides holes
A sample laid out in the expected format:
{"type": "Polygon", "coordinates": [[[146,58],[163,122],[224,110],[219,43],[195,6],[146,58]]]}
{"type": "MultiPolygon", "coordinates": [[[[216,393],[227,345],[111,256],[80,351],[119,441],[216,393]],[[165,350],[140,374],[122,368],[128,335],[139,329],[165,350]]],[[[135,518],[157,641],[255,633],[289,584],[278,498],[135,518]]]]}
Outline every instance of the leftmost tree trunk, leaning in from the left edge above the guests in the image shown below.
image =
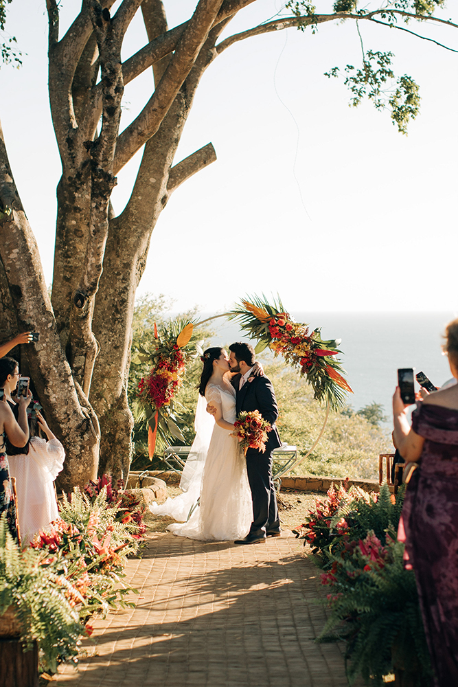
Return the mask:
{"type": "Polygon", "coordinates": [[[51,427],[67,452],[59,484],[69,490],[97,474],[100,429],[60,344],[32,229],[12,179],[0,127],[0,259],[19,331],[40,333],[24,346],[38,398],[51,427]]]}

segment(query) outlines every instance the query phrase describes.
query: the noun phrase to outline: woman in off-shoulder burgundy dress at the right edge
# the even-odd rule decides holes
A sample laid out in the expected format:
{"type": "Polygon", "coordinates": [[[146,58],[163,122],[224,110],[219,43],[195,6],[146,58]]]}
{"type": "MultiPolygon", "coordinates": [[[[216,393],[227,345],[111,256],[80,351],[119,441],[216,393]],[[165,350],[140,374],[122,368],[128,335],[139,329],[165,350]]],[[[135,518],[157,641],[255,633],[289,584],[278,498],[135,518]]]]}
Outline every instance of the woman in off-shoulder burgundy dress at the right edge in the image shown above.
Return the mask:
{"type": "MultiPolygon", "coordinates": [[[[458,319],[444,351],[458,379],[458,319]]],[[[393,396],[394,436],[406,462],[418,461],[407,487],[402,526],[415,571],[436,687],[458,686],[458,384],[429,394],[406,418],[393,396]]],[[[403,539],[403,537],[400,537],[403,539]]]]}

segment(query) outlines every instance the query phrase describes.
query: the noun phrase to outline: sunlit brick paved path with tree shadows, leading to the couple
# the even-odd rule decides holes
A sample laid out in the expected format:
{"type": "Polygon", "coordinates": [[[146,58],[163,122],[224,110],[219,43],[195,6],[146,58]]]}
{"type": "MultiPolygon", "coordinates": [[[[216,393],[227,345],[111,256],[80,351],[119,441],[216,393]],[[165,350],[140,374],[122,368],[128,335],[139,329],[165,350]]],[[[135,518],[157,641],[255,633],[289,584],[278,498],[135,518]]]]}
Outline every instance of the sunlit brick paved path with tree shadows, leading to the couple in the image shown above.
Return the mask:
{"type": "Polygon", "coordinates": [[[126,571],[137,606],[96,621],[57,684],[346,687],[339,646],[312,642],[325,615],[302,550],[290,532],[251,546],[150,534],[126,571]]]}

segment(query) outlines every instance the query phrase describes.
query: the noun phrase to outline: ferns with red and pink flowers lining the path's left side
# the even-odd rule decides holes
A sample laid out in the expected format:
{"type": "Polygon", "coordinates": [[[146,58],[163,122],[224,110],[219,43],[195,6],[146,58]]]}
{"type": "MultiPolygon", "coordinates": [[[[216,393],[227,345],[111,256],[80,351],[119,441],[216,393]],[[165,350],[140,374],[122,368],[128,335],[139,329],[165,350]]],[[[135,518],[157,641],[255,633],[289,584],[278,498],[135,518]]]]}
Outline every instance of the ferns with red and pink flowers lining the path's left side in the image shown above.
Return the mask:
{"type": "Polygon", "coordinates": [[[133,606],[124,567],[141,543],[145,507],[120,486],[104,475],[63,495],[59,518],[24,550],[0,521],[0,618],[14,609],[23,646],[38,642],[41,673],[78,662],[94,616],[133,606]]]}

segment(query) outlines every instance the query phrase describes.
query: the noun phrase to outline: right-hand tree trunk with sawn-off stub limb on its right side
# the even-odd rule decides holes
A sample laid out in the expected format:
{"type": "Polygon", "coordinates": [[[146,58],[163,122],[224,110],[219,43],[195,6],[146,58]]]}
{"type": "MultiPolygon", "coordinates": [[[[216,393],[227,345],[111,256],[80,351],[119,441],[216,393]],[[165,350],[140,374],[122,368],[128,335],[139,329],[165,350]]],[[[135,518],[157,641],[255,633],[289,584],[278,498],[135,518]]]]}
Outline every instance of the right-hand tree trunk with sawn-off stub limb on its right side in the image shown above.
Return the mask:
{"type": "MultiPolygon", "coordinates": [[[[147,9],[142,5],[144,14],[147,9]]],[[[221,30],[222,26],[218,28],[221,30]]],[[[172,167],[198,82],[214,57],[214,40],[214,36],[209,37],[203,46],[159,131],[146,143],[130,200],[124,212],[110,223],[93,319],[100,352],[90,398],[100,422],[99,473],[109,473],[115,479],[126,480],[132,455],[133,418],[127,400],[132,319],[135,291],[144,273],[152,230],[174,189],[216,159],[209,145],[172,167]],[[111,314],[109,328],[106,313],[111,314]]],[[[155,80],[159,80],[165,66],[162,62],[154,69],[155,80]]]]}

